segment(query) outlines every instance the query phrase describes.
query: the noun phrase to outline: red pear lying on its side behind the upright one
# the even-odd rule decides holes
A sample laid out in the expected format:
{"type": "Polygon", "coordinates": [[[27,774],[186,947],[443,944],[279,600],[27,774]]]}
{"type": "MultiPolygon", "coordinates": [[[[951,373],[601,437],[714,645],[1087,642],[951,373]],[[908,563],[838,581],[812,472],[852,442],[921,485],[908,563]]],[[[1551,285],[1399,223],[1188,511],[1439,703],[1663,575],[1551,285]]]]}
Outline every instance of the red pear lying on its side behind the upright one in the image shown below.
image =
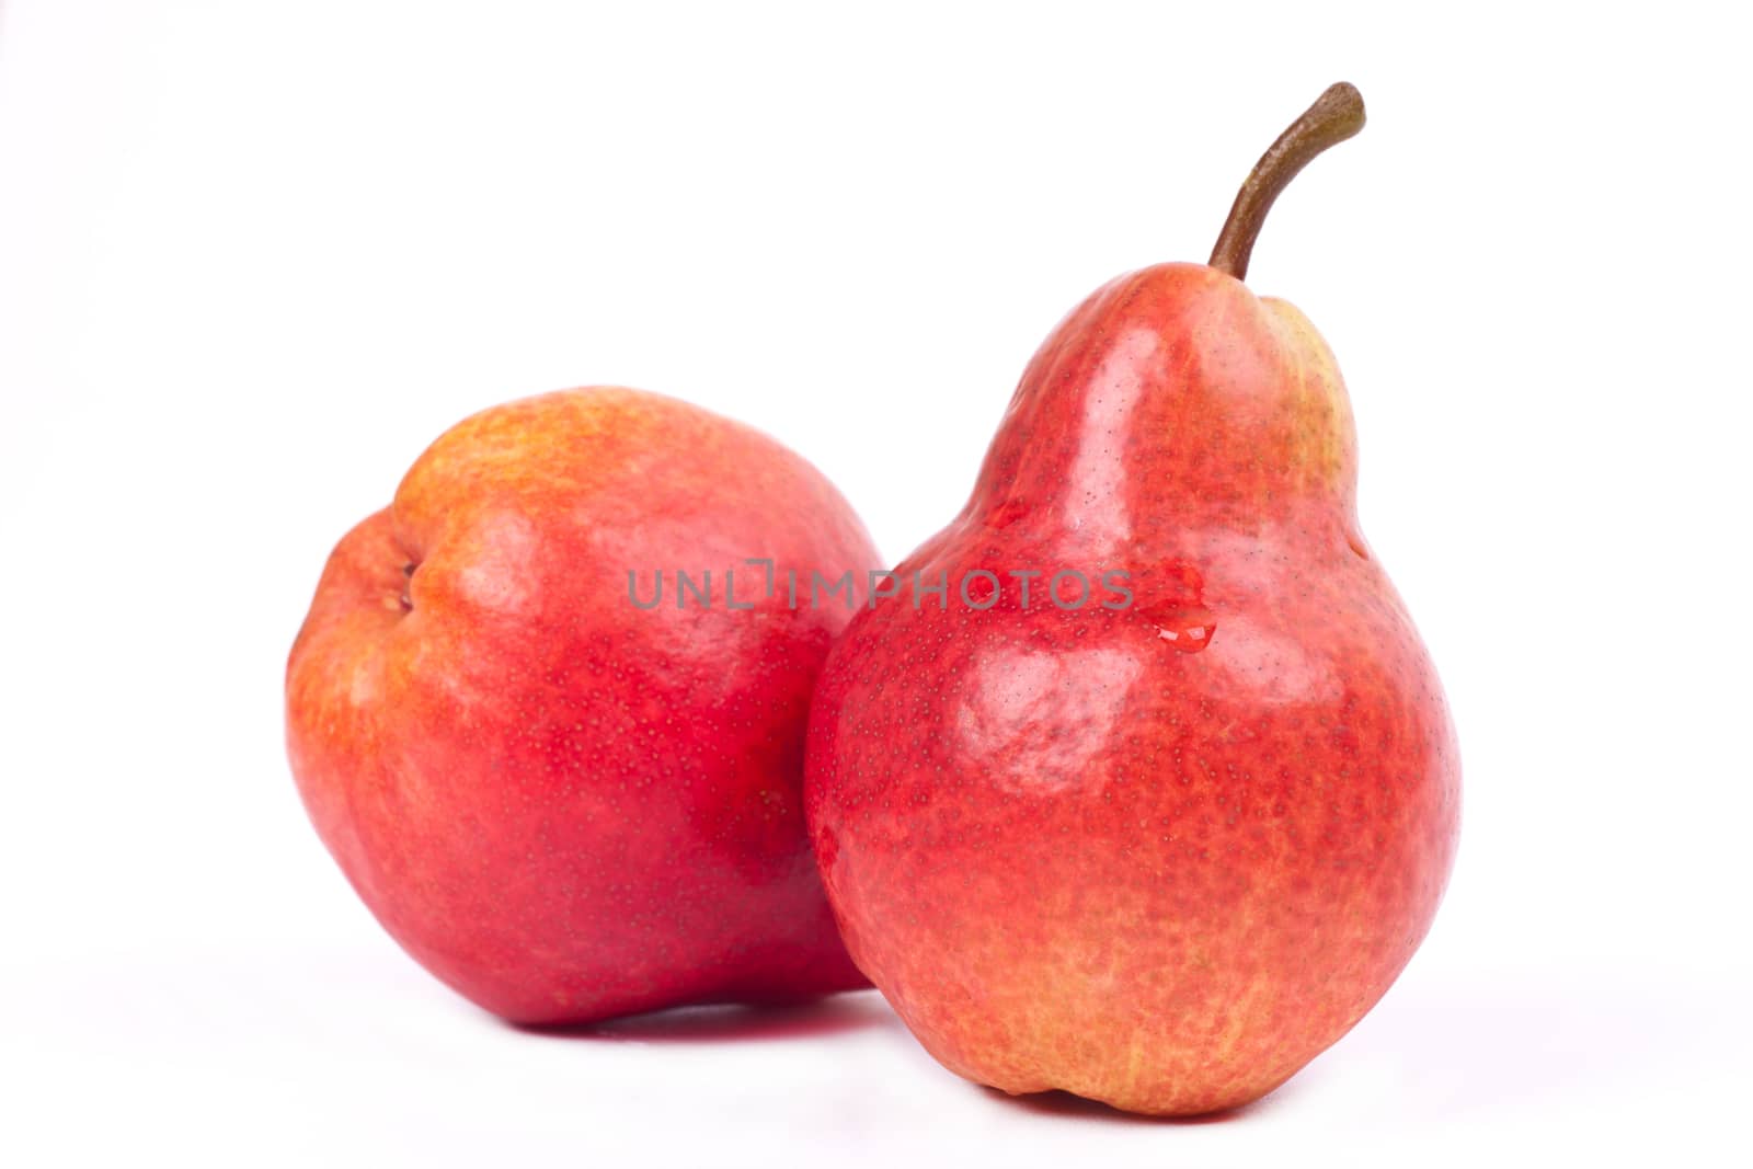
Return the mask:
{"type": "Polygon", "coordinates": [[[508,1020],[862,987],[801,811],[850,613],[784,582],[873,557],[815,468],[682,401],[477,414],[330,557],[286,671],[298,790],[396,941],[508,1020]],[[710,606],[677,570],[712,573],[710,606]]]}

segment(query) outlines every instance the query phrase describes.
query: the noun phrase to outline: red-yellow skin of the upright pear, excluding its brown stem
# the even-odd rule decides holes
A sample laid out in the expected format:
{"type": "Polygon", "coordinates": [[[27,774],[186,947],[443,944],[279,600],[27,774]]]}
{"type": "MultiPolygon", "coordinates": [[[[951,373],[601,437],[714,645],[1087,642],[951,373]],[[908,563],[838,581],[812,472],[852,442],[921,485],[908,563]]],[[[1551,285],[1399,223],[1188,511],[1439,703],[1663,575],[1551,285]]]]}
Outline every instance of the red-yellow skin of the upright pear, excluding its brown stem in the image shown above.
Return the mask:
{"type": "Polygon", "coordinates": [[[1460,764],[1355,482],[1327,345],[1215,268],[1120,277],[1034,356],[971,499],[896,570],[947,575],[947,608],[859,613],[810,720],[841,932],[947,1067],[1227,1109],[1411,959],[1460,764]],[[1061,570],[1082,608],[1045,596],[1061,570]]]}

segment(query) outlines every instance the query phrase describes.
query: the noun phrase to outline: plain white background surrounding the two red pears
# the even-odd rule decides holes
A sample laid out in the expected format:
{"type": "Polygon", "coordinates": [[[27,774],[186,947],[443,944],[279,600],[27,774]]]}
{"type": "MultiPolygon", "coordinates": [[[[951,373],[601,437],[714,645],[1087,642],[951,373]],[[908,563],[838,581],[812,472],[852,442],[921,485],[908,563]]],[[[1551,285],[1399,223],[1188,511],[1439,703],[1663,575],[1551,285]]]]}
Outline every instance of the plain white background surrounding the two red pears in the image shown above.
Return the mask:
{"type": "Polygon", "coordinates": [[[0,1160],[1746,1155],[1753,102],[1707,11],[9,0],[0,1160]],[[875,995],[522,1034],[380,934],[280,684],[431,438],[666,391],[898,559],[1059,315],[1203,259],[1341,77],[1369,130],[1250,284],[1339,356],[1467,773],[1436,931],[1350,1038],[1155,1123],[971,1087],[875,995]]]}

